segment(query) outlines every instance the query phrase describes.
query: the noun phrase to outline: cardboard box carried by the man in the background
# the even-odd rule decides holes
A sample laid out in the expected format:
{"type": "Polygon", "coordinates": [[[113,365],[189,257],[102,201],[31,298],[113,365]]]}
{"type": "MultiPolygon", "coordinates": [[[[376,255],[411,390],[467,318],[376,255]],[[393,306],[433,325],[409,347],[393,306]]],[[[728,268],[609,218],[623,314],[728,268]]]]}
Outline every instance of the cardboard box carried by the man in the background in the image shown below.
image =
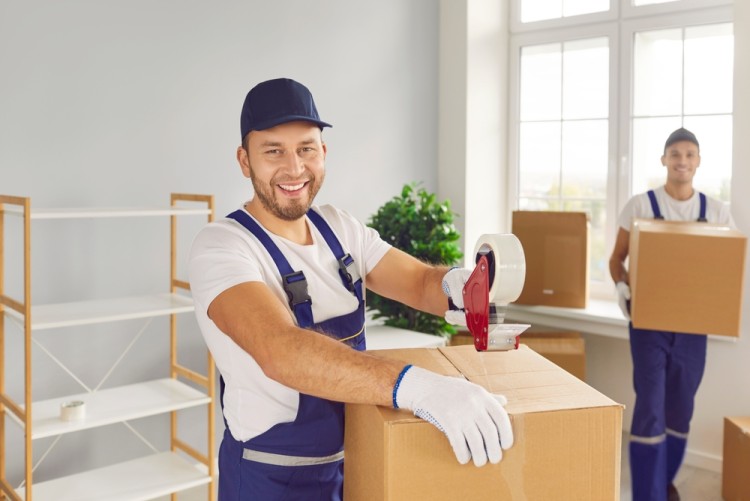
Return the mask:
{"type": "Polygon", "coordinates": [[[628,265],[633,326],[739,336],[746,244],[727,226],[634,221],[628,265]]]}

